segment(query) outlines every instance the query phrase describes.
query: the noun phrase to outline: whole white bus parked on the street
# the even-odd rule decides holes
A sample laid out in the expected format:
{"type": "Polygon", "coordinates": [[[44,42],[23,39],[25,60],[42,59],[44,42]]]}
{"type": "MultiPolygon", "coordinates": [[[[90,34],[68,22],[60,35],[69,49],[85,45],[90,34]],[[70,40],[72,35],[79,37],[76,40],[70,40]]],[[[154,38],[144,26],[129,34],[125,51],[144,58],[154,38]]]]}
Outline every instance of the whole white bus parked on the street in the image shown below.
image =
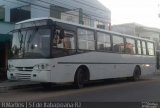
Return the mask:
{"type": "Polygon", "coordinates": [[[13,31],[9,80],[73,83],[132,78],[156,70],[151,40],[115,33],[54,18],[36,18],[16,24],[13,31]]]}

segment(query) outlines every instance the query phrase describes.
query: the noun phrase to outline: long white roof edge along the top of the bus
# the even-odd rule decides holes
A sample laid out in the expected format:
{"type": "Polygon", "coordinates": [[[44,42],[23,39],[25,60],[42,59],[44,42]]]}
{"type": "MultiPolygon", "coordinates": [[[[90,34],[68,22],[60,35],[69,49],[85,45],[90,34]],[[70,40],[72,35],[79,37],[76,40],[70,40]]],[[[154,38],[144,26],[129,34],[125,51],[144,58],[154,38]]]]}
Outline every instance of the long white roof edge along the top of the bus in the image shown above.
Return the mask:
{"type": "Polygon", "coordinates": [[[24,21],[18,22],[16,24],[18,25],[18,24],[23,24],[23,23],[32,22],[32,21],[38,21],[38,20],[52,20],[53,22],[55,21],[55,22],[74,25],[74,26],[77,26],[77,27],[82,27],[82,28],[97,30],[97,31],[101,31],[101,32],[111,33],[111,34],[114,34],[114,35],[120,35],[120,36],[125,36],[125,37],[130,37],[130,38],[135,38],[135,39],[141,39],[141,40],[155,42],[155,41],[150,40],[150,39],[145,39],[145,38],[136,37],[136,36],[132,36],[132,35],[122,34],[122,33],[114,32],[114,31],[108,31],[108,30],[104,30],[104,29],[100,29],[100,28],[94,28],[94,27],[85,26],[85,25],[81,25],[81,24],[76,24],[76,23],[72,23],[72,22],[56,19],[56,18],[53,18],[53,17],[32,18],[32,19],[28,19],[28,20],[24,20],[24,21]]]}

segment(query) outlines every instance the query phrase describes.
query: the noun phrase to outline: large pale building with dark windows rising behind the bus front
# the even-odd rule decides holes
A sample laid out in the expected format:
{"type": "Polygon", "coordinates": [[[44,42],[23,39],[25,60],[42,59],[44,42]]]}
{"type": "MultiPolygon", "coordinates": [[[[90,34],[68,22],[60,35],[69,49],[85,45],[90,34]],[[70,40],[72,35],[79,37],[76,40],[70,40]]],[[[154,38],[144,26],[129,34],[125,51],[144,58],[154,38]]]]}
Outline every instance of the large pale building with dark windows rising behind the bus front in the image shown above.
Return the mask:
{"type": "Polygon", "coordinates": [[[19,22],[55,17],[92,27],[109,29],[111,12],[97,0],[0,0],[0,19],[19,22]]]}

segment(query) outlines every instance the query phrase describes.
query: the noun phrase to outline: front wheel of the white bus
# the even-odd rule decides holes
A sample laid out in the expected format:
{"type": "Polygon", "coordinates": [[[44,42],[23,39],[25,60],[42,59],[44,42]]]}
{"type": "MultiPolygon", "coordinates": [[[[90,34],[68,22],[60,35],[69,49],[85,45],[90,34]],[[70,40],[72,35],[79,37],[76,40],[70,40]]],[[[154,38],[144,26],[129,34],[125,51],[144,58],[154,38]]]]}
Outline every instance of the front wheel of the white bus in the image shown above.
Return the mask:
{"type": "Polygon", "coordinates": [[[76,71],[75,80],[74,80],[74,87],[76,89],[83,88],[85,82],[86,82],[85,71],[83,68],[79,68],[76,71]]]}

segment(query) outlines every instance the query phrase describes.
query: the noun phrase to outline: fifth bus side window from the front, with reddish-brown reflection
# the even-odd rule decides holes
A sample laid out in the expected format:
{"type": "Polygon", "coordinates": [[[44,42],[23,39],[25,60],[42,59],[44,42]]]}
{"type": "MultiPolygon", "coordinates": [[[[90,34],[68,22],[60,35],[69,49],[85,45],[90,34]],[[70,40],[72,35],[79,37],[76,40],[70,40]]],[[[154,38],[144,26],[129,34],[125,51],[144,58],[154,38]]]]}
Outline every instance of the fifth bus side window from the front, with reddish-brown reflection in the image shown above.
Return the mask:
{"type": "Polygon", "coordinates": [[[126,38],[125,51],[127,54],[136,54],[135,40],[126,38]]]}

